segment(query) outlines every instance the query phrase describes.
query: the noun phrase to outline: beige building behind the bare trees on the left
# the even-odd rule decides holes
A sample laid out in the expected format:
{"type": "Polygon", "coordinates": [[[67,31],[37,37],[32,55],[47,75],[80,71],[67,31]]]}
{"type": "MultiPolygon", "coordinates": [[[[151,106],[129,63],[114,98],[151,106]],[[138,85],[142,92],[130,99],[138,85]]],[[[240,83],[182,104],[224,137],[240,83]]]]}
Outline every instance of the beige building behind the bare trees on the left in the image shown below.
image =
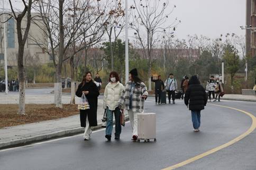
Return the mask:
{"type": "MultiPolygon", "coordinates": [[[[36,16],[36,13],[32,13],[32,17],[36,16]]],[[[7,17],[7,15],[6,15],[7,17]]],[[[3,21],[1,16],[0,21],[3,21]]],[[[39,17],[34,17],[29,31],[28,39],[26,40],[24,48],[24,64],[29,62],[30,59],[38,60],[40,64],[47,64],[50,62],[50,56],[47,53],[42,51],[42,48],[39,46],[45,46],[47,48],[48,38],[44,34],[42,28],[44,27],[41,24],[39,17]]],[[[4,54],[4,25],[0,23],[0,54],[4,54]]],[[[7,66],[17,66],[17,53],[18,53],[18,39],[16,31],[16,21],[14,18],[11,18],[6,23],[6,46],[7,46],[7,66]]],[[[26,22],[24,17],[24,22],[22,22],[22,28],[25,29],[26,22]]],[[[2,55],[3,56],[3,55],[2,55]]],[[[3,58],[0,58],[3,59],[3,58]]],[[[1,62],[3,63],[3,62],[1,62]]]]}

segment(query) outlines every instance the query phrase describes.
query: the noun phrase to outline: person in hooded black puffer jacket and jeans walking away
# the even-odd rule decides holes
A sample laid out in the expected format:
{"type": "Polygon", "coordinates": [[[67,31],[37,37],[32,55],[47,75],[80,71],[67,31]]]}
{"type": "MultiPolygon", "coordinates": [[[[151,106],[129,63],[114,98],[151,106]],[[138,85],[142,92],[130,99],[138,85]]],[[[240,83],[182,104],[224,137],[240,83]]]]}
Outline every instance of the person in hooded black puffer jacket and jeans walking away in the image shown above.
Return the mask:
{"type": "Polygon", "coordinates": [[[189,105],[195,132],[199,131],[201,111],[207,104],[207,98],[205,89],[200,84],[197,76],[192,76],[189,80],[189,86],[185,93],[184,102],[186,106],[189,105]]]}

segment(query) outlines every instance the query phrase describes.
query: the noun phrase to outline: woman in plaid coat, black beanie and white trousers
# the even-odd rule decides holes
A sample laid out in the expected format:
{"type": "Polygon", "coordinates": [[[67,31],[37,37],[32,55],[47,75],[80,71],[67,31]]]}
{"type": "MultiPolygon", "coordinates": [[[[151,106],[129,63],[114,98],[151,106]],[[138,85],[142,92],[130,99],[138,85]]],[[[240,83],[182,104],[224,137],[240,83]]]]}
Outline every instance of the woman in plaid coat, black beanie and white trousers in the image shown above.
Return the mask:
{"type": "Polygon", "coordinates": [[[129,81],[126,83],[121,98],[118,101],[118,107],[122,108],[124,105],[128,111],[133,141],[136,141],[138,138],[138,114],[142,113],[144,101],[147,97],[148,89],[138,77],[137,69],[134,68],[130,71],[129,81]]]}

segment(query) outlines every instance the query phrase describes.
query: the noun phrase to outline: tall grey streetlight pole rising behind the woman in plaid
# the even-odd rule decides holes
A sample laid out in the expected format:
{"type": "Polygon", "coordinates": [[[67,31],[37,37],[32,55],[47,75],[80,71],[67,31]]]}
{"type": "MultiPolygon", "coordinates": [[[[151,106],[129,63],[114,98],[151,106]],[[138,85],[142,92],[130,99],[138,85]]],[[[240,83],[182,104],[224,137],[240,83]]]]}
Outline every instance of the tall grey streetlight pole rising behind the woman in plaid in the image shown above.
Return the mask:
{"type": "Polygon", "coordinates": [[[128,2],[125,0],[125,82],[129,81],[128,2]]]}

